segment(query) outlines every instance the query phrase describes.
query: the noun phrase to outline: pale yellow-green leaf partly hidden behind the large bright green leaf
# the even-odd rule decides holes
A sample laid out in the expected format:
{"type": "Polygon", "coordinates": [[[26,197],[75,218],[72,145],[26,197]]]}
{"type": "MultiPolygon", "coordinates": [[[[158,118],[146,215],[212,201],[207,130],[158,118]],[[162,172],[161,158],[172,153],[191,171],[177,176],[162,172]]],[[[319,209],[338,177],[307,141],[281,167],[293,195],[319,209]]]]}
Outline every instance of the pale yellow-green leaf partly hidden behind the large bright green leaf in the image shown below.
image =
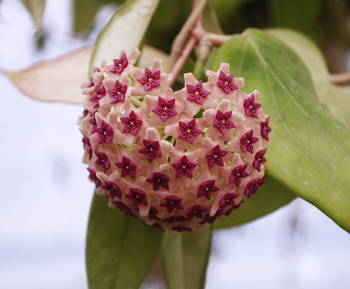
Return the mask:
{"type": "Polygon", "coordinates": [[[307,37],[293,30],[271,29],[269,33],[291,47],[307,66],[320,101],[343,124],[350,127],[350,88],[330,81],[327,64],[318,47],[307,37]]]}

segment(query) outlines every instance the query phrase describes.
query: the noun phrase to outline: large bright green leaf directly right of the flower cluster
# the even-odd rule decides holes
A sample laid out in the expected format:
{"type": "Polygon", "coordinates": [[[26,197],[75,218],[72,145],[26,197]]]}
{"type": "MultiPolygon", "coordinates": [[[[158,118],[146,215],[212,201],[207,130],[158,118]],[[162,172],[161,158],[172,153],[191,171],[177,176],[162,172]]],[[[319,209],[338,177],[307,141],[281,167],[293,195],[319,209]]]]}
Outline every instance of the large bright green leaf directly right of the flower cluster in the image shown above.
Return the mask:
{"type": "Polygon", "coordinates": [[[218,52],[258,89],[273,132],[266,168],[276,180],[350,230],[350,131],[319,102],[298,55],[271,34],[248,29],[218,52]]]}

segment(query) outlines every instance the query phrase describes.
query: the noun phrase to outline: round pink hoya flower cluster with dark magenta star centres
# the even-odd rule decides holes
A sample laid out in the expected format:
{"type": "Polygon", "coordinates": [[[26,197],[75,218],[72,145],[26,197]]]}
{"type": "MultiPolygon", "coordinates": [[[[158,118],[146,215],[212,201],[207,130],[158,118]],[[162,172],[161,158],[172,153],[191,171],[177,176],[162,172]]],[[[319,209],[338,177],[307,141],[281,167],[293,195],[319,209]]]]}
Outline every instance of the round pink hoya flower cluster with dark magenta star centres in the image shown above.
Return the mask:
{"type": "Polygon", "coordinates": [[[173,91],[161,61],[140,69],[138,51],[96,68],[80,118],[96,192],[127,215],[191,231],[229,215],[263,183],[269,118],[260,94],[222,63],[208,81],[184,75],[173,91]]]}

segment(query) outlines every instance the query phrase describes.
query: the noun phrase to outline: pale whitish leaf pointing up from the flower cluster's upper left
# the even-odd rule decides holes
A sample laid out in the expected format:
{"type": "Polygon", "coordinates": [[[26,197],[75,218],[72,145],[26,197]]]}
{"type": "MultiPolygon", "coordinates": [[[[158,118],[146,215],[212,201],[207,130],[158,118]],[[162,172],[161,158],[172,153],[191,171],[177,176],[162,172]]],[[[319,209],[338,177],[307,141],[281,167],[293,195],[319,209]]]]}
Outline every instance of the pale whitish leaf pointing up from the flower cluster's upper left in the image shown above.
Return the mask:
{"type": "Polygon", "coordinates": [[[103,60],[119,57],[140,46],[159,0],[128,0],[120,6],[98,35],[90,60],[90,72],[103,60]]]}

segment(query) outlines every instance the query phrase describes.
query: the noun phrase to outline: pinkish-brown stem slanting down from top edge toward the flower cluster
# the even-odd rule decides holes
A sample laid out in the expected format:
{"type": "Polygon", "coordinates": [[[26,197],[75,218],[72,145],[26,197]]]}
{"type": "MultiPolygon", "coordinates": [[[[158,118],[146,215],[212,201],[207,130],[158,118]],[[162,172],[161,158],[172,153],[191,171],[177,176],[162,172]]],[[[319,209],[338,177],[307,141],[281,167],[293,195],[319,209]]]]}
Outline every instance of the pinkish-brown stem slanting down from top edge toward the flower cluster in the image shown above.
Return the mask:
{"type": "Polygon", "coordinates": [[[196,24],[198,18],[201,17],[206,3],[207,3],[207,0],[193,1],[193,9],[192,9],[191,15],[188,17],[180,33],[176,36],[173,42],[173,45],[171,47],[170,67],[175,66],[175,62],[177,61],[177,58],[181,54],[181,51],[186,42],[186,39],[188,38],[189,34],[192,32],[193,26],[196,24]]]}

